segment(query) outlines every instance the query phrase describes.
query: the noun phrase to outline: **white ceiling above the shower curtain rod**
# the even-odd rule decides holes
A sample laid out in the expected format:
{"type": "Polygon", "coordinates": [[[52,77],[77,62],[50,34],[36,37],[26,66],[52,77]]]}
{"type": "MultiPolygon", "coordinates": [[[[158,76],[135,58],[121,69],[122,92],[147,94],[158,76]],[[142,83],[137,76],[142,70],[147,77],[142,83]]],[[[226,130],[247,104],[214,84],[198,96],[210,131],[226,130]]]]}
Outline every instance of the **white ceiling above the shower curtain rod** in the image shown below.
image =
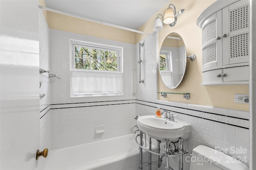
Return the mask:
{"type": "MultiPolygon", "coordinates": [[[[170,0],[44,0],[47,8],[138,29],[170,0]]],[[[157,16],[156,16],[157,17],[157,16]]]]}

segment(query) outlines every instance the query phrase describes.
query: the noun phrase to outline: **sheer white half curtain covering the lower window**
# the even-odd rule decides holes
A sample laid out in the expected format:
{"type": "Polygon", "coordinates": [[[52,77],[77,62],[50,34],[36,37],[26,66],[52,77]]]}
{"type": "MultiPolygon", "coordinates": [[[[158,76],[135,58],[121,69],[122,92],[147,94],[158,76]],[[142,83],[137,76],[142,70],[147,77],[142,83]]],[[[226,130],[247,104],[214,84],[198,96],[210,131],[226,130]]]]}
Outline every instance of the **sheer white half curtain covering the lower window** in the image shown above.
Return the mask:
{"type": "Polygon", "coordinates": [[[123,94],[122,72],[70,70],[71,96],[111,96],[123,94]]]}

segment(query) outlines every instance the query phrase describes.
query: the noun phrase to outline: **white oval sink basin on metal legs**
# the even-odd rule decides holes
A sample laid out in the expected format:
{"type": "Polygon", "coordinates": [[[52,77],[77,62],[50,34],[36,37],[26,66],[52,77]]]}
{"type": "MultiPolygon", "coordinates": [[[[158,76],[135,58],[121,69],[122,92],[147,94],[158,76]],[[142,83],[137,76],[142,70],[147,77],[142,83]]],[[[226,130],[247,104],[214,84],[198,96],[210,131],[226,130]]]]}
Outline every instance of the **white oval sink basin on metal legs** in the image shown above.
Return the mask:
{"type": "Polygon", "coordinates": [[[148,136],[158,140],[178,140],[184,135],[184,123],[158,118],[153,115],[140,116],[137,119],[138,128],[148,136]]]}

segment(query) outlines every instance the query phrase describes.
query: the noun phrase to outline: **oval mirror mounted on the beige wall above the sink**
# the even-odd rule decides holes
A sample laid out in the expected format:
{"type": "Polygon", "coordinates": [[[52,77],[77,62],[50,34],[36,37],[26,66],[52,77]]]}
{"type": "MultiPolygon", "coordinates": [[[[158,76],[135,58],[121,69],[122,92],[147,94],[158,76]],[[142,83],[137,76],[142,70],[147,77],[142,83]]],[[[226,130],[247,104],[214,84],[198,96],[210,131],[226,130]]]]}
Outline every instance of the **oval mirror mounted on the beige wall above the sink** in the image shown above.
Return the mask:
{"type": "Polygon", "coordinates": [[[178,33],[170,33],[164,39],[159,54],[159,73],[167,88],[178,87],[186,69],[186,48],[178,33]]]}

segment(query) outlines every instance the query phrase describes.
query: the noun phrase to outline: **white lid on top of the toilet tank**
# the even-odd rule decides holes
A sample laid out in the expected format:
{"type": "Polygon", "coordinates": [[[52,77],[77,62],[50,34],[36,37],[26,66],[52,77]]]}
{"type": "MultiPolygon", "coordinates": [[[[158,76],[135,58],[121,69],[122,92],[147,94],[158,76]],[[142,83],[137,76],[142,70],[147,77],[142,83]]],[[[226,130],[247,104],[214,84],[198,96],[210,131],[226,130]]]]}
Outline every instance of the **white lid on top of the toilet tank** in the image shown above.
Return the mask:
{"type": "Polygon", "coordinates": [[[224,170],[248,170],[248,167],[243,162],[203,145],[195,147],[192,152],[224,170]]]}

